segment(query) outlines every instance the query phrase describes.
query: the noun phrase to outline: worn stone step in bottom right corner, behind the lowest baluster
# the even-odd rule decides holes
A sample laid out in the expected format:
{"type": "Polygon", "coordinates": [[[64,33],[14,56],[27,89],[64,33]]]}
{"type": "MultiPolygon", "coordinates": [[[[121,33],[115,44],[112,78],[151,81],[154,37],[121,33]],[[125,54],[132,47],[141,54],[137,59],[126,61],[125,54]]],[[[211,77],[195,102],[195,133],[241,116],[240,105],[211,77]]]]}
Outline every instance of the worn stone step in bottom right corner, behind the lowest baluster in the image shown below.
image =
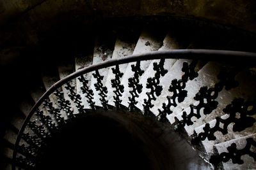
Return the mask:
{"type": "MultiPolygon", "coordinates": [[[[247,144],[246,139],[248,139],[248,138],[252,138],[253,141],[256,141],[256,134],[251,134],[248,136],[244,136],[242,138],[237,138],[237,139],[233,139],[233,140],[226,141],[223,143],[219,143],[217,145],[214,145],[214,148],[216,148],[216,150],[219,154],[221,154],[223,152],[228,153],[228,150],[227,150],[228,146],[231,146],[233,143],[235,143],[237,150],[241,150],[246,146],[246,144],[247,144]]],[[[256,153],[255,146],[251,146],[249,148],[250,148],[251,152],[256,153]]],[[[229,159],[227,162],[222,162],[223,169],[225,169],[225,170],[256,169],[256,162],[253,159],[253,157],[250,157],[249,155],[246,154],[246,155],[241,156],[241,160],[243,160],[243,164],[234,164],[231,159],[229,159]]]]}

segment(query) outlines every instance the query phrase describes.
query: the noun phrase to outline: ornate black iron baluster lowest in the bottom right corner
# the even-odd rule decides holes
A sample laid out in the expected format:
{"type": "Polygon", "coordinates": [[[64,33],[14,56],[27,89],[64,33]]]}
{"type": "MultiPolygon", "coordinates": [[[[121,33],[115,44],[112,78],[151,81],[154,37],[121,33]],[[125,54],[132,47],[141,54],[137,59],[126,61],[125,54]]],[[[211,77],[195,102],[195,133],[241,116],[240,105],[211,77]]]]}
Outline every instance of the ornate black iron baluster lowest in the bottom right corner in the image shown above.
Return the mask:
{"type": "Polygon", "coordinates": [[[256,160],[256,153],[250,150],[252,146],[256,147],[256,141],[254,141],[253,138],[247,138],[246,142],[246,146],[241,150],[236,148],[236,143],[232,143],[227,147],[228,152],[220,153],[220,155],[212,155],[210,162],[216,165],[220,162],[228,162],[228,160],[231,159],[233,164],[243,164],[244,161],[241,160],[242,155],[249,155],[256,160]]]}

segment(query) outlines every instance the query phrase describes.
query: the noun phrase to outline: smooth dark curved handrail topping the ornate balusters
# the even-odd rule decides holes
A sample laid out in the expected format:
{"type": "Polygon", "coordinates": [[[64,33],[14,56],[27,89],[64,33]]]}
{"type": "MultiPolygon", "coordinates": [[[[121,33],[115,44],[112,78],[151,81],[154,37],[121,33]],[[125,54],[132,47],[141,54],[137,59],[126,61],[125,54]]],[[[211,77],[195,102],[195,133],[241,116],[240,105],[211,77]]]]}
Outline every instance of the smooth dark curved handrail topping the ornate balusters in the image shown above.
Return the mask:
{"type": "Polygon", "coordinates": [[[19,130],[17,139],[15,141],[15,146],[13,148],[13,166],[12,169],[15,169],[15,159],[17,155],[17,148],[19,146],[19,142],[22,136],[22,132],[24,131],[26,124],[29,122],[30,118],[35,113],[36,109],[40,104],[43,103],[47,97],[49,97],[54,90],[61,87],[61,85],[67,83],[68,81],[81,76],[82,74],[86,74],[98,69],[102,69],[104,67],[115,66],[117,64],[125,64],[129,62],[136,62],[139,60],[153,60],[153,59],[200,59],[200,60],[216,60],[216,61],[228,61],[228,62],[239,62],[239,64],[248,64],[255,65],[256,61],[256,53],[252,52],[238,52],[238,51],[228,51],[228,50],[163,50],[149,53],[142,53],[137,55],[129,55],[127,57],[122,57],[118,59],[111,59],[105,62],[101,62],[99,64],[93,64],[92,66],[84,67],[83,69],[79,69],[78,71],[66,76],[65,78],[57,81],[52,85],[40,99],[36,102],[36,104],[31,108],[28,116],[24,120],[22,127],[19,130]]]}

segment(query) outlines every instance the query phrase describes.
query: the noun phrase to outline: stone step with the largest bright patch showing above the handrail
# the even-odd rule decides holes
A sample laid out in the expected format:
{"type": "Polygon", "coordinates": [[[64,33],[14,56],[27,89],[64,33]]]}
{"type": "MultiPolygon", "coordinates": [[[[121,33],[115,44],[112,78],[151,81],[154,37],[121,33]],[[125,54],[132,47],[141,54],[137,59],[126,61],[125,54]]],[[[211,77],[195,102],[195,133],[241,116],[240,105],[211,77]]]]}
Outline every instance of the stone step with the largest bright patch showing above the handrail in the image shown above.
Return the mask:
{"type": "MultiPolygon", "coordinates": [[[[140,38],[138,39],[138,42],[132,54],[153,52],[161,48],[165,35],[163,35],[164,33],[163,31],[161,33],[157,32],[158,34],[156,34],[156,32],[157,32],[156,30],[154,31],[154,30],[144,29],[141,32],[140,38]]],[[[150,60],[141,61],[140,62],[141,70],[146,71],[150,62],[151,62],[150,60]]],[[[122,104],[126,107],[129,106],[128,97],[131,96],[131,94],[129,93],[129,90],[131,89],[128,87],[128,80],[134,75],[134,72],[132,72],[132,69],[131,69],[132,64],[136,64],[136,62],[131,62],[128,64],[121,82],[122,85],[124,85],[124,93],[122,94],[121,100],[122,100],[122,104]]]]}

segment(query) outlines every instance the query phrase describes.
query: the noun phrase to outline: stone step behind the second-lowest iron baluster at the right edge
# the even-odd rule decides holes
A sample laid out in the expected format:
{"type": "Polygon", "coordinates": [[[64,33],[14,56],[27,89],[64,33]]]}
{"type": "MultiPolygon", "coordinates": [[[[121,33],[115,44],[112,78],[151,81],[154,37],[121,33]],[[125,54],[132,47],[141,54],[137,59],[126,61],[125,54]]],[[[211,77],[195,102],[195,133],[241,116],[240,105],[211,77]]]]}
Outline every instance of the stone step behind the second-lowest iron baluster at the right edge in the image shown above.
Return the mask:
{"type": "MultiPolygon", "coordinates": [[[[253,79],[253,76],[250,76],[250,74],[248,74],[247,71],[242,71],[241,73],[237,74],[237,76],[236,76],[236,80],[239,82],[239,86],[236,89],[232,89],[230,91],[223,90],[223,92],[226,92],[226,93],[228,92],[228,94],[232,94],[231,99],[242,97],[245,101],[254,101],[255,96],[256,96],[255,91],[250,90],[250,89],[253,89],[253,87],[255,87],[255,82],[250,81],[252,79],[253,79]]],[[[228,95],[225,95],[225,97],[222,97],[222,99],[225,99],[225,101],[220,101],[218,99],[216,100],[216,101],[219,102],[218,108],[220,107],[220,109],[218,109],[218,110],[220,110],[220,111],[214,110],[214,112],[211,113],[211,115],[207,115],[207,116],[202,115],[202,117],[199,120],[195,120],[194,125],[191,125],[189,127],[185,127],[186,131],[188,132],[189,135],[192,134],[193,129],[195,129],[196,134],[199,134],[200,132],[204,132],[203,127],[205,126],[205,123],[207,123],[207,122],[209,122],[210,127],[213,127],[216,124],[216,120],[215,119],[212,120],[212,117],[219,117],[220,115],[223,115],[221,117],[223,119],[226,119],[226,118],[229,117],[228,114],[223,113],[223,111],[222,111],[223,107],[222,107],[221,103],[226,104],[224,106],[224,108],[225,108],[231,102],[228,100],[229,99],[228,95]]],[[[253,117],[256,120],[256,115],[252,115],[250,117],[253,117]]],[[[236,138],[241,138],[243,136],[248,136],[252,133],[253,134],[256,133],[256,129],[255,129],[256,123],[254,123],[252,127],[248,127],[246,129],[244,129],[244,131],[241,131],[241,132],[232,131],[233,125],[234,125],[234,123],[231,123],[231,124],[228,125],[228,134],[223,135],[221,132],[215,132],[214,135],[217,138],[216,140],[208,141],[207,139],[205,139],[205,141],[202,141],[202,143],[205,147],[205,150],[207,150],[207,152],[212,152],[213,151],[212,150],[213,145],[216,145],[218,143],[222,143],[224,141],[228,141],[228,140],[231,140],[231,139],[236,139],[236,138]]]]}

